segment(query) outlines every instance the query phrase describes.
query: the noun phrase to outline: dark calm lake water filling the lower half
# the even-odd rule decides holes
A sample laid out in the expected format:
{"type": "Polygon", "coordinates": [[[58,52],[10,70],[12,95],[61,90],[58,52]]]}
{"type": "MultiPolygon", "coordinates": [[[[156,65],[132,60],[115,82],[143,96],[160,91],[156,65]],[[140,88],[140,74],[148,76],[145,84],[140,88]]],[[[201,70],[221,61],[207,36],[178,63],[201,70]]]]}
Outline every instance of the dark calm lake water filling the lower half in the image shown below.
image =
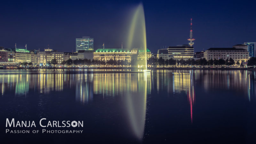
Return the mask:
{"type": "Polygon", "coordinates": [[[1,143],[255,143],[255,80],[247,70],[1,70],[1,143]],[[6,118],[36,128],[5,133],[6,118]],[[83,133],[42,133],[41,118],[83,121],[44,128],[83,133]]]}

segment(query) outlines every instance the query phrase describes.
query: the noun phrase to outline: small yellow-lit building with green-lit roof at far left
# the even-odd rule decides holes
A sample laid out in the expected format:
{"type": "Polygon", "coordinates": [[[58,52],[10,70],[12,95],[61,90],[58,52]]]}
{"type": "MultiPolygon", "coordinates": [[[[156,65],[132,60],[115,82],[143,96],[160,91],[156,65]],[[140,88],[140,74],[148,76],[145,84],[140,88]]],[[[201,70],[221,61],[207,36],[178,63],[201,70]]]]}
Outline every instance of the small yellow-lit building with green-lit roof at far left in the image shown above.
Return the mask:
{"type": "Polygon", "coordinates": [[[30,51],[26,49],[15,49],[15,62],[31,62],[30,51]]]}

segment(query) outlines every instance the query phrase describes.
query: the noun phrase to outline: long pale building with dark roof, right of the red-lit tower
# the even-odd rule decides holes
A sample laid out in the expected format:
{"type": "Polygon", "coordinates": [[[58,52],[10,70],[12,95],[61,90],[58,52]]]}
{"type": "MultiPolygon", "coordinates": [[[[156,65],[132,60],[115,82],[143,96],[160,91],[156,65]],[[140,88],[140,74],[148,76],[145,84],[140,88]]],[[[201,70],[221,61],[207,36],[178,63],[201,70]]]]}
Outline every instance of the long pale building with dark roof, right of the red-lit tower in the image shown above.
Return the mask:
{"type": "Polygon", "coordinates": [[[230,59],[245,62],[249,59],[249,52],[243,48],[210,48],[204,52],[206,60],[230,59]]]}

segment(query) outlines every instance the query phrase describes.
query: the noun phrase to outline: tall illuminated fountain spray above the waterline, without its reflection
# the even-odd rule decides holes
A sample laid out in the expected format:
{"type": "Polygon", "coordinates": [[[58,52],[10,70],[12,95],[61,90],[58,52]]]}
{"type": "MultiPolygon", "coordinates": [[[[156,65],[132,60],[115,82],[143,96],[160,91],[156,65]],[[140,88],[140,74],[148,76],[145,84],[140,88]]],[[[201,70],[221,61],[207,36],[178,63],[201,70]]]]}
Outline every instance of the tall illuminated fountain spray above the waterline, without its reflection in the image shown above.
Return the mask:
{"type": "Polygon", "coordinates": [[[144,58],[138,60],[137,63],[147,69],[147,39],[146,39],[146,24],[143,5],[139,4],[135,13],[132,16],[132,23],[129,29],[127,48],[132,49],[134,45],[140,45],[144,51],[144,58]]]}

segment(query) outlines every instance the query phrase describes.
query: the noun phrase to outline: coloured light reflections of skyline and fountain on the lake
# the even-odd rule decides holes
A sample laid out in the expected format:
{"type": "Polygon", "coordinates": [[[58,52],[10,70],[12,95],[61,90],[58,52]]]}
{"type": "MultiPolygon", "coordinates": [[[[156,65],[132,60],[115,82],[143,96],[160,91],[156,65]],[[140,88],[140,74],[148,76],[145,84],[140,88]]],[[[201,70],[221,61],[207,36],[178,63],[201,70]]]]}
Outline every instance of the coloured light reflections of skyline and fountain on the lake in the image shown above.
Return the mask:
{"type": "MultiPolygon", "coordinates": [[[[188,100],[190,120],[193,123],[196,90],[230,90],[244,92],[251,101],[255,96],[255,72],[247,70],[154,70],[152,73],[142,72],[29,72],[1,71],[0,90],[2,96],[6,92],[15,97],[25,98],[30,92],[50,94],[62,92],[64,89],[75,89],[75,101],[82,105],[93,102],[94,95],[105,97],[121,97],[131,130],[138,139],[143,138],[147,96],[152,91],[165,93],[165,96],[184,94],[188,100]],[[10,73],[9,73],[10,72],[10,73]],[[197,89],[196,89],[197,87],[197,89]]],[[[151,95],[160,97],[160,95],[151,95]]]]}

